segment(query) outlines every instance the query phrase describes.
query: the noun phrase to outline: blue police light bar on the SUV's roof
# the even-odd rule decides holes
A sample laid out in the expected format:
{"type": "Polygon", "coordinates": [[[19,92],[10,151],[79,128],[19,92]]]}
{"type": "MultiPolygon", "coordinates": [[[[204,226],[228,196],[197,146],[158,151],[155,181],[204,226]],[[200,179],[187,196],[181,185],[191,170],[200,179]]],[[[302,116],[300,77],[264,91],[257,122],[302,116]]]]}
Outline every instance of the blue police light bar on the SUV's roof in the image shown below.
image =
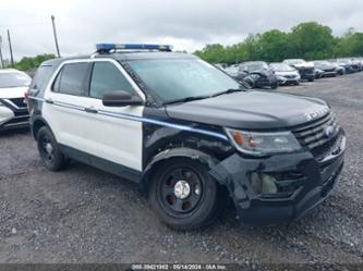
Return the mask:
{"type": "Polygon", "coordinates": [[[98,44],[96,45],[96,50],[98,52],[108,52],[111,50],[157,50],[157,51],[168,51],[172,50],[170,45],[137,45],[137,44],[98,44]]]}

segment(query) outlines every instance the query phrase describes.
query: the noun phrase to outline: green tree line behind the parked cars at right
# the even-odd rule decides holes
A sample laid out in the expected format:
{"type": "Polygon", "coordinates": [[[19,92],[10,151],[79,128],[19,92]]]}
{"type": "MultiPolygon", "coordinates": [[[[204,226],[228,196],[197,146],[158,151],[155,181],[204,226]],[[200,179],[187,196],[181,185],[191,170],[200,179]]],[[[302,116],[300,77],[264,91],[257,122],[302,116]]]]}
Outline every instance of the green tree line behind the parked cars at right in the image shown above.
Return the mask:
{"type": "Polygon", "coordinates": [[[363,33],[353,28],[342,37],[332,36],[331,28],[316,22],[302,23],[285,33],[278,29],[250,34],[239,44],[206,45],[194,52],[210,63],[240,63],[262,60],[280,62],[285,59],[320,60],[363,56],[363,33]]]}

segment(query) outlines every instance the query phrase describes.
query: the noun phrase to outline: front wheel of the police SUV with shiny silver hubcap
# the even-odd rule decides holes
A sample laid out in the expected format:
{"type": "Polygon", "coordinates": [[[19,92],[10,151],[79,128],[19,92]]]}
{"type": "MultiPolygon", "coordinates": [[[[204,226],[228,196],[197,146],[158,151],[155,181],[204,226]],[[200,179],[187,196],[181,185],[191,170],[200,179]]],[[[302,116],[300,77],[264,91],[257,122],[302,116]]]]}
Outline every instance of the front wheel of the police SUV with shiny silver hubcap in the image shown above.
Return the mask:
{"type": "Polygon", "coordinates": [[[171,159],[156,169],[148,198],[164,223],[184,231],[211,223],[220,206],[217,182],[204,164],[187,158],[171,159]]]}

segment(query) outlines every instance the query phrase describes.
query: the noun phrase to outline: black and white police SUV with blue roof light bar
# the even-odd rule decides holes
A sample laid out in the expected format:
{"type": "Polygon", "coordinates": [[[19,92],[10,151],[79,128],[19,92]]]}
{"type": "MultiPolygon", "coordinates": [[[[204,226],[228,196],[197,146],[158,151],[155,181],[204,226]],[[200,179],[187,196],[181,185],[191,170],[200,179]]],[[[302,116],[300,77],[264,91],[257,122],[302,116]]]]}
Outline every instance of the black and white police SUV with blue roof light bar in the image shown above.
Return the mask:
{"type": "Polygon", "coordinates": [[[324,101],[245,90],[168,46],[46,61],[28,96],[46,168],[74,159],[137,182],[174,229],[213,221],[222,190],[246,223],[290,222],[343,165],[344,132],[324,101]]]}

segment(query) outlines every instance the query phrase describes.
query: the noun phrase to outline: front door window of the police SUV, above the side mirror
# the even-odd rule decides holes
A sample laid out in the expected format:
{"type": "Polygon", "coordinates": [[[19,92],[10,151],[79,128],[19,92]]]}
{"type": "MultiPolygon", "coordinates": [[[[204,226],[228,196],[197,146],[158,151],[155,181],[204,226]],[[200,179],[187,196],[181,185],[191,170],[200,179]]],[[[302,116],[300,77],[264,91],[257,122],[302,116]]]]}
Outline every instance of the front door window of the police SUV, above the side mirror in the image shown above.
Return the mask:
{"type": "Polygon", "coordinates": [[[105,93],[118,90],[135,94],[131,84],[116,65],[108,62],[96,62],[92,73],[89,96],[101,99],[105,93]]]}

